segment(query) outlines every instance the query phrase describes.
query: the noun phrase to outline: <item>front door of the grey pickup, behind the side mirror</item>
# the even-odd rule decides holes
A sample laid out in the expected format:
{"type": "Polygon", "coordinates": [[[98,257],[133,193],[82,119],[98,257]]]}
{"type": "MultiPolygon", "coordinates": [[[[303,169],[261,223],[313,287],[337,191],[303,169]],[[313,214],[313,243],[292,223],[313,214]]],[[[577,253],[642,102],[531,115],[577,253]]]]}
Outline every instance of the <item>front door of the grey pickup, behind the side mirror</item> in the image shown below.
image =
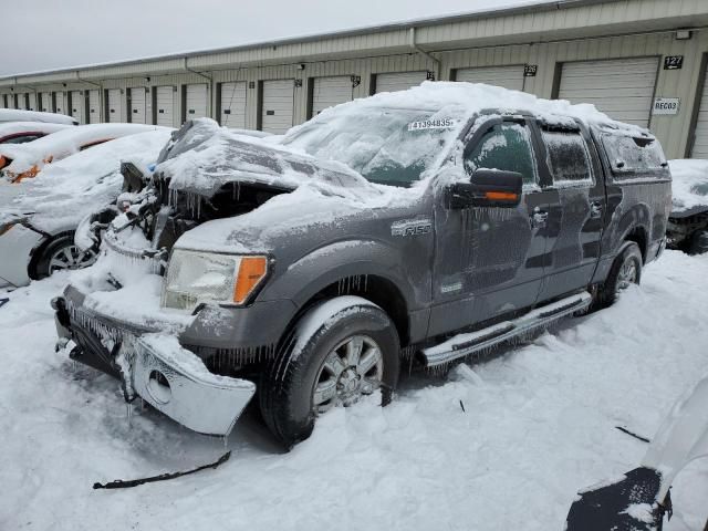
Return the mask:
{"type": "Polygon", "coordinates": [[[454,210],[440,191],[429,335],[533,305],[544,274],[549,197],[540,186],[538,140],[519,117],[492,118],[475,131],[456,177],[482,168],[518,171],[523,196],[516,208],[454,210]]]}

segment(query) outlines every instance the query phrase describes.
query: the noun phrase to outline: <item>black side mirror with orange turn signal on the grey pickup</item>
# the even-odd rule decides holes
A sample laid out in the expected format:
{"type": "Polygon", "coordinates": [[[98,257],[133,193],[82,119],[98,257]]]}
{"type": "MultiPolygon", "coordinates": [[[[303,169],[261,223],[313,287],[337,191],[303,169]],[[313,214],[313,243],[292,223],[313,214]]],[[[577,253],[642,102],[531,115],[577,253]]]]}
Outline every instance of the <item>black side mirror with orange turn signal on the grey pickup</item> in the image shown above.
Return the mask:
{"type": "Polygon", "coordinates": [[[455,183],[448,192],[448,207],[513,208],[521,201],[523,177],[517,171],[478,169],[469,183],[455,183]]]}

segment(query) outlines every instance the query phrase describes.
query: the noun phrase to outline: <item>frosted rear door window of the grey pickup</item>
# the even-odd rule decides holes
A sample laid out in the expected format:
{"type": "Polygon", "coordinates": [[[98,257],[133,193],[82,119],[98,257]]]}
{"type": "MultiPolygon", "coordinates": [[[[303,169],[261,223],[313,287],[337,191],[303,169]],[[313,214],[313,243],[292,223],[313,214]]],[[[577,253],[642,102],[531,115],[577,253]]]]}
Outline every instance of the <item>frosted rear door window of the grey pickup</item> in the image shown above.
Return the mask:
{"type": "Polygon", "coordinates": [[[558,186],[592,186],[590,154],[577,131],[543,131],[548,165],[558,186]]]}

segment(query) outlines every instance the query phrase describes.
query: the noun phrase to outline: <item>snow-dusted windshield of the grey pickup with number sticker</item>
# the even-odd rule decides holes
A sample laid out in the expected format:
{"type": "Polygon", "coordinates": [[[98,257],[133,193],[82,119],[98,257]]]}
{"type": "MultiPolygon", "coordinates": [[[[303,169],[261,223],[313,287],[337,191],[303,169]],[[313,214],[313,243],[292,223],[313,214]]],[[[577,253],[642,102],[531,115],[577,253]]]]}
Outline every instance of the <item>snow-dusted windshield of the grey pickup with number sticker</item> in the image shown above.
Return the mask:
{"type": "Polygon", "coordinates": [[[296,128],[283,144],[346,164],[372,183],[409,187],[461,125],[460,115],[450,108],[343,107],[296,128]]]}

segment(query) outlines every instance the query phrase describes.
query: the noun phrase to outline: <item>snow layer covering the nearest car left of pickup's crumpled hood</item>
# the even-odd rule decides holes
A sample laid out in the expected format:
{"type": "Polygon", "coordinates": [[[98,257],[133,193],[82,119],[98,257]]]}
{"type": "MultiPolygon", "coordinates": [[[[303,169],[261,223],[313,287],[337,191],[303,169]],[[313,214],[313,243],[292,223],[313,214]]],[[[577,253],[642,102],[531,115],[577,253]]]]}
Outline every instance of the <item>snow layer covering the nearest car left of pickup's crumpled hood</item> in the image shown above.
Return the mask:
{"type": "Polygon", "coordinates": [[[106,142],[48,166],[34,179],[0,186],[0,219],[3,212],[34,212],[31,223],[41,230],[75,228],[84,216],[115,201],[123,185],[121,163],[129,160],[149,174],[169,134],[160,128],[106,142]]]}

